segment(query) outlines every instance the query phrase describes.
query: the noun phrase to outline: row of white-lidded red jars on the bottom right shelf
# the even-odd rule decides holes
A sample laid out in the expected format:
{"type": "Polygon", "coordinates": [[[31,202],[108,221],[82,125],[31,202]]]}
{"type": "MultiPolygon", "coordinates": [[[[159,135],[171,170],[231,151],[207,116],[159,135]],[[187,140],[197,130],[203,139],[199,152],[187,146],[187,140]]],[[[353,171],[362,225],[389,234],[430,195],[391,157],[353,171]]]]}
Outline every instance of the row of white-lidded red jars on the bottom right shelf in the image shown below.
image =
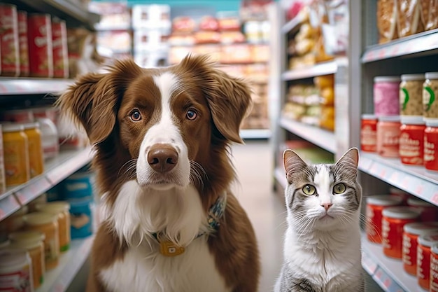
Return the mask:
{"type": "Polygon", "coordinates": [[[438,207],[407,195],[372,195],[367,201],[367,239],[400,260],[418,286],[438,291],[438,207]]]}

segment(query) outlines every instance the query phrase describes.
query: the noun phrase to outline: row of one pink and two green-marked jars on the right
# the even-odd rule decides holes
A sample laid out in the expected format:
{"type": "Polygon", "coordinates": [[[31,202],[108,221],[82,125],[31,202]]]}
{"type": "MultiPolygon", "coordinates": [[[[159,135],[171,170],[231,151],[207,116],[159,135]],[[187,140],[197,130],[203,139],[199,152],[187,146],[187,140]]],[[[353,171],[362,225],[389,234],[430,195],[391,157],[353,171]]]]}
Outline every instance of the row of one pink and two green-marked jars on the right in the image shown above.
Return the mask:
{"type": "Polygon", "coordinates": [[[438,72],[374,77],[374,115],[438,119],[438,72]]]}

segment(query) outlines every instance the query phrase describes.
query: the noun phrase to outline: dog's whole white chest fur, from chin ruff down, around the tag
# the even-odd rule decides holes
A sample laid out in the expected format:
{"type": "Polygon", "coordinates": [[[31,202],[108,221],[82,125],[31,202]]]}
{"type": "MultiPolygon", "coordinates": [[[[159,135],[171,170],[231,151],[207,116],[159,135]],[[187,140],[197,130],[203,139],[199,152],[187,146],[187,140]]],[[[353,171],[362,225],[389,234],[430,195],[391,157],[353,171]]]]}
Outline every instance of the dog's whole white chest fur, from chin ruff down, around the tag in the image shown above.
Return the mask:
{"type": "Polygon", "coordinates": [[[128,181],[107,216],[118,237],[129,244],[122,259],[99,272],[108,291],[230,291],[209,251],[206,235],[197,237],[209,228],[193,186],[144,191],[136,181],[128,181]],[[156,239],[150,236],[157,230],[166,230],[168,238],[178,239],[185,252],[163,256],[156,239]]]}

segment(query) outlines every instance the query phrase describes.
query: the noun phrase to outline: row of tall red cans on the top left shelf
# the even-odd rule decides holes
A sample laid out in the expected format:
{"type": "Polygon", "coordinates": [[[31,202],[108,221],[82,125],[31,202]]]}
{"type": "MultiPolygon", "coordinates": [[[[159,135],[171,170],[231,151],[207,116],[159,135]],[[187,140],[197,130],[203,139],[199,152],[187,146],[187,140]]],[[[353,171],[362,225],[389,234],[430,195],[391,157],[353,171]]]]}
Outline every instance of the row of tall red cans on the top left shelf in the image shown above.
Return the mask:
{"type": "Polygon", "coordinates": [[[69,77],[64,20],[0,4],[1,76],[69,77]]]}

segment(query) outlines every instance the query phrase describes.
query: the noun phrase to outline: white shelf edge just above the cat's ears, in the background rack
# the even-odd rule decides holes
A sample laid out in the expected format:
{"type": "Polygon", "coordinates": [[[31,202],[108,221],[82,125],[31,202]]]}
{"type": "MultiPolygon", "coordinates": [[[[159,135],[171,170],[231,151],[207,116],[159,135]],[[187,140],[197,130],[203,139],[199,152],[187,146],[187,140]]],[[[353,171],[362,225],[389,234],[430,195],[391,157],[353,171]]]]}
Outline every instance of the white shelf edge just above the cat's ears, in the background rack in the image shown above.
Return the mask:
{"type": "Polygon", "coordinates": [[[305,125],[288,118],[281,118],[280,126],[320,148],[336,153],[337,145],[334,132],[323,130],[320,127],[305,125]]]}

